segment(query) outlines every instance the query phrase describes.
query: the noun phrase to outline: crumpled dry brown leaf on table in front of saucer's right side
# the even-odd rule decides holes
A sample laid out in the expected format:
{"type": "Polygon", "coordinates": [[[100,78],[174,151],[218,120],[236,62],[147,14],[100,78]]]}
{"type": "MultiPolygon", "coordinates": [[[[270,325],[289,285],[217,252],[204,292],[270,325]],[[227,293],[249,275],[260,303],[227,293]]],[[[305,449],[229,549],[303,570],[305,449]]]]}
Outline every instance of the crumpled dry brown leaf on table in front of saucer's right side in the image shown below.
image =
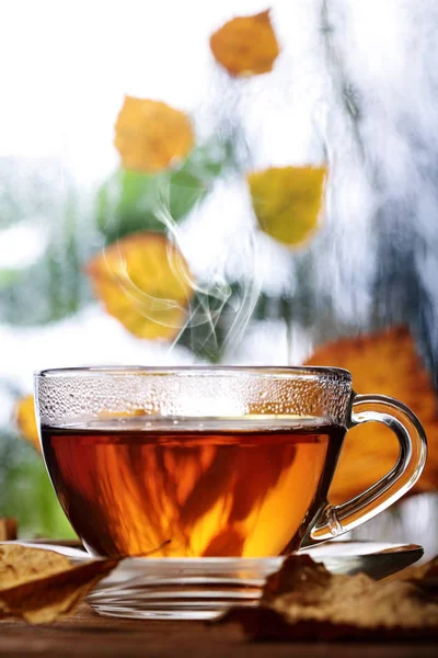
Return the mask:
{"type": "Polygon", "coordinates": [[[438,636],[438,601],[413,582],[332,575],[290,556],[258,608],[232,609],[220,622],[238,622],[255,639],[424,639],[438,636]]]}

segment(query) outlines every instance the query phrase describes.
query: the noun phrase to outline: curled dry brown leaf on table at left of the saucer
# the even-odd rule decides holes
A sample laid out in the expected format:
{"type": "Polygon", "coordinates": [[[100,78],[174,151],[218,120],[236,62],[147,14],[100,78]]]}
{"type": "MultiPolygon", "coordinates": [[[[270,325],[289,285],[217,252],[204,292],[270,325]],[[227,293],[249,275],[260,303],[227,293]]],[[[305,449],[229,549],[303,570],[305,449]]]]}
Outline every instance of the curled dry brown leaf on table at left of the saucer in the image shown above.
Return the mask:
{"type": "Polygon", "coordinates": [[[71,613],[88,592],[119,563],[95,559],[74,566],[42,548],[0,546],[0,620],[21,617],[31,624],[50,623],[71,613]]]}

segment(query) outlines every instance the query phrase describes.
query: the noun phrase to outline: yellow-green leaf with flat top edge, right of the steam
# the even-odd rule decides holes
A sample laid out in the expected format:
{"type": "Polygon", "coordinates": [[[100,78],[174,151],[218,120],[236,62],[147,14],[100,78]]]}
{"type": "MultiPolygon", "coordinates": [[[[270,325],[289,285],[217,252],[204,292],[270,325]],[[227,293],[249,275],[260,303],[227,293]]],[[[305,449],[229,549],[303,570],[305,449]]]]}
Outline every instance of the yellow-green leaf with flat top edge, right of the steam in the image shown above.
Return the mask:
{"type": "Polygon", "coordinates": [[[287,247],[302,245],[316,229],[325,167],[273,167],[246,175],[258,226],[287,247]]]}

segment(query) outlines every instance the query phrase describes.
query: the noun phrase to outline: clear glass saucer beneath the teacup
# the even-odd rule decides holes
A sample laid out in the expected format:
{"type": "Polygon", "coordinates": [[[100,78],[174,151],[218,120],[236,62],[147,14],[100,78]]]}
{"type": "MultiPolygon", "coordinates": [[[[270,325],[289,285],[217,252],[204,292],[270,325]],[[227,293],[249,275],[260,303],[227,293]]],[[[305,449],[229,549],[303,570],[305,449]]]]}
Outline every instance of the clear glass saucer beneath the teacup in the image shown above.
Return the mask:
{"type": "MultiPolygon", "coordinates": [[[[24,544],[24,542],[21,542],[24,544]]],[[[72,561],[92,559],[84,551],[57,544],[50,548],[72,561]]],[[[323,563],[332,574],[359,571],[380,579],[423,556],[415,544],[332,541],[301,554],[323,563]]],[[[211,620],[230,605],[257,605],[269,574],[284,557],[126,558],[88,595],[103,615],[155,620],[211,620]]]]}

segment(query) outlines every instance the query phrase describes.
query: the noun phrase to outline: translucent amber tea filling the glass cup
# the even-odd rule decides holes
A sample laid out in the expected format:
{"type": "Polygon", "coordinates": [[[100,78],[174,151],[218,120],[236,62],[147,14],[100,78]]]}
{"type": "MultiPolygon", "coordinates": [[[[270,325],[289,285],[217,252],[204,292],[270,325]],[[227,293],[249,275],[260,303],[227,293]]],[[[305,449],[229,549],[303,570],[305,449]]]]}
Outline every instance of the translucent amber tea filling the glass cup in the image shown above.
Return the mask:
{"type": "Polygon", "coordinates": [[[53,484],[89,549],[262,557],[298,547],[307,514],[326,496],[344,428],[267,417],[168,423],[43,428],[53,484]]]}

